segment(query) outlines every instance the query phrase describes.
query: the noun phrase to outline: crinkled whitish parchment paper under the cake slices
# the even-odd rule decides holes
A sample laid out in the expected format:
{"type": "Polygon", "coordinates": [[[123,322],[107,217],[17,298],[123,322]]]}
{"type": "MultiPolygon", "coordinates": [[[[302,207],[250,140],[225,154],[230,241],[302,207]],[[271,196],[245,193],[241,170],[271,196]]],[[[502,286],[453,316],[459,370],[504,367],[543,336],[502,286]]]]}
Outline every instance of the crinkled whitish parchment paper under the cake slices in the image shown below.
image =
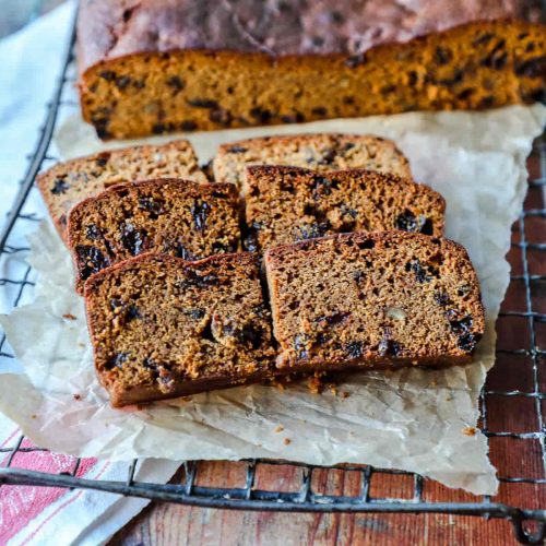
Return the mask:
{"type": "MultiPolygon", "coordinates": [[[[417,180],[448,202],[447,236],[462,242],[478,272],[487,332],[474,364],[353,376],[317,395],[307,387],[253,385],[111,410],[95,379],[82,300],[69,254],[52,227],[31,239],[39,273],[36,300],[0,319],[24,365],[3,373],[0,411],[39,446],[112,460],[275,458],[310,464],[367,463],[418,472],[450,487],[495,494],[495,468],[474,425],[477,397],[494,364],[495,319],[509,282],[510,227],[526,188],[525,158],[546,108],[470,114],[406,114],[298,127],[191,135],[205,161],[217,144],[247,135],[301,131],[376,133],[410,157],[417,180]],[[76,319],[63,318],[68,313],[76,319]]],[[[158,139],[154,139],[158,140],[158,139]]],[[[99,147],[79,118],[58,134],[64,157],[99,147]]]]}

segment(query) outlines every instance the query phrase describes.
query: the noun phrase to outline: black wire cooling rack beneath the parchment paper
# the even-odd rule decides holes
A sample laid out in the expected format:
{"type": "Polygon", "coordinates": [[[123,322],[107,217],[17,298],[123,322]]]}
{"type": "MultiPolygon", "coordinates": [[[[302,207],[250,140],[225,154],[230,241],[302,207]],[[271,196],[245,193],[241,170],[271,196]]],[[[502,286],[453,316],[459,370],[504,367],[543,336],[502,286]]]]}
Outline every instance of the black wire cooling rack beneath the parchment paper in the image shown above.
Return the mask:
{"type": "MultiPolygon", "coordinates": [[[[33,210],[32,194],[37,173],[55,163],[51,140],[64,108],[78,108],[67,91],[73,87],[75,69],[72,29],[62,73],[47,116],[39,130],[34,152],[13,206],[0,235],[0,265],[19,264],[16,275],[0,278],[12,307],[32,298],[33,271],[24,262],[28,248],[24,235],[41,219],[43,209],[33,210]],[[38,212],[37,212],[38,211],[38,212]]],[[[178,502],[199,507],[293,512],[443,513],[506,519],[513,523],[515,537],[524,544],[538,544],[546,534],[546,139],[535,142],[529,158],[529,192],[519,221],[512,229],[509,260],[511,284],[498,320],[497,364],[480,395],[480,430],[489,438],[490,456],[499,468],[497,497],[476,497],[443,488],[419,475],[366,465],[340,465],[330,468],[286,461],[251,460],[238,463],[188,461],[170,484],[135,480],[138,461],[128,464],[124,482],[84,479],[78,476],[81,460],[73,459],[71,472],[48,474],[17,467],[19,455],[46,451],[24,436],[0,448],[0,487],[5,485],[54,486],[109,491],[124,496],[178,502]],[[201,474],[204,465],[213,472],[201,474]],[[214,466],[216,464],[216,466],[214,466]],[[226,466],[240,479],[228,486],[215,472],[226,466]],[[216,468],[216,471],[214,471],[216,468]],[[282,480],[275,470],[283,468],[282,480]],[[287,470],[289,472],[287,472],[287,470]],[[346,487],[328,490],[324,475],[351,474],[346,487]],[[292,483],[286,486],[286,475],[292,483]],[[212,476],[212,477],[211,477],[212,476]],[[206,480],[205,480],[206,482],[206,480]],[[281,486],[281,484],[284,484],[281,486]],[[529,506],[518,506],[524,499],[529,506]]],[[[13,269],[13,268],[11,268],[13,269]]],[[[14,356],[5,335],[0,339],[0,366],[14,356]]],[[[5,369],[5,368],[4,368],[5,369]]],[[[24,465],[23,465],[24,466],[24,465]]],[[[342,480],[343,482],[343,480],[342,480]]],[[[339,483],[339,482],[337,482],[339,483]]]]}

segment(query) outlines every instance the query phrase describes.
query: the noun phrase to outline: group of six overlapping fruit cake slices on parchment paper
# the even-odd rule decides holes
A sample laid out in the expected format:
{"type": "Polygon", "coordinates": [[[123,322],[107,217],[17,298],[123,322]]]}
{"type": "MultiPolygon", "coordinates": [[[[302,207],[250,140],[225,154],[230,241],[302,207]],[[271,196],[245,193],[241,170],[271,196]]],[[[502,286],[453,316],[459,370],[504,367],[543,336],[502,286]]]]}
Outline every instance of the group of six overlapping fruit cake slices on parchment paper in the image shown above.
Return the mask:
{"type": "Polygon", "coordinates": [[[171,146],[168,165],[130,149],[97,171],[93,156],[40,179],[61,228],[68,215],[114,406],[285,373],[472,359],[485,328],[476,273],[442,238],[444,200],[412,179],[393,143],[239,141],[214,159],[214,183],[189,144],[171,146]],[[161,178],[170,171],[193,180],[161,178]]]}

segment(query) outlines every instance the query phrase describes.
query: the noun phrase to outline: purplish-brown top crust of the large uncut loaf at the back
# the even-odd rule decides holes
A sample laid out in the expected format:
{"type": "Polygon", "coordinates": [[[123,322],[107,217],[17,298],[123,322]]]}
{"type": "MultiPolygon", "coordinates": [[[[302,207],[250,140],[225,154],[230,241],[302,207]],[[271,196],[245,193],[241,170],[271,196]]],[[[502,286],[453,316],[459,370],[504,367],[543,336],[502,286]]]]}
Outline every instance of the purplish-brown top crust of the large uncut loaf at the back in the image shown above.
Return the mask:
{"type": "Polygon", "coordinates": [[[176,49],[355,56],[468,23],[523,19],[525,8],[521,0],[417,0],[412,5],[397,0],[84,0],[79,64],[84,72],[102,61],[176,49]]]}

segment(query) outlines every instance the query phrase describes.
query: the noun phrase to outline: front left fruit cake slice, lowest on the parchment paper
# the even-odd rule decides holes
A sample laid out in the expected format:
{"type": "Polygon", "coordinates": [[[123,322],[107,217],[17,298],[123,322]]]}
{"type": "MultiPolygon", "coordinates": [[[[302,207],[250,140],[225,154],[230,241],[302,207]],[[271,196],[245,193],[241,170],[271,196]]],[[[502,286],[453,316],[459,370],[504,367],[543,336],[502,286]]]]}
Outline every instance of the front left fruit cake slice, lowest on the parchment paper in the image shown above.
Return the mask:
{"type": "Polygon", "coordinates": [[[112,406],[269,379],[275,369],[257,259],[144,254],[93,275],[85,306],[112,406]]]}

